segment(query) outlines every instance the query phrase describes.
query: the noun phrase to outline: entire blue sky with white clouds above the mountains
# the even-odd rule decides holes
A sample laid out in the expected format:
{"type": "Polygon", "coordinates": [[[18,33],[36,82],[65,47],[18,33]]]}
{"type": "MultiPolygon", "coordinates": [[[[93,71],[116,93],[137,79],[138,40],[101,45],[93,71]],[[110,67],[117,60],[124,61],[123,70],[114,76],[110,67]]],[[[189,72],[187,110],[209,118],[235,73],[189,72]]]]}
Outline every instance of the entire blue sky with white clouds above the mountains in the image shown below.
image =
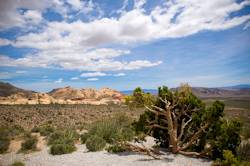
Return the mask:
{"type": "Polygon", "coordinates": [[[0,81],[49,91],[250,83],[249,0],[0,0],[0,81]]]}

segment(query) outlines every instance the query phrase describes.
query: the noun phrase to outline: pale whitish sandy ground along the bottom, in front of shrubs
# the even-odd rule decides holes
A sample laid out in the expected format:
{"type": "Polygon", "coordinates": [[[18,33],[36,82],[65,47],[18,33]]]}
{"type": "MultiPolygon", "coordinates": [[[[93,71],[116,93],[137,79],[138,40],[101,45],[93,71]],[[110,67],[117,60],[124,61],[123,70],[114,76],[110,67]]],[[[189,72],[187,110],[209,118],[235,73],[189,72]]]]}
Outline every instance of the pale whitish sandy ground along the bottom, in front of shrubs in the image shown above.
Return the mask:
{"type": "MultiPolygon", "coordinates": [[[[147,139],[146,146],[153,141],[147,139]]],[[[49,148],[30,154],[15,152],[0,155],[0,165],[8,166],[14,161],[22,161],[26,166],[209,166],[211,161],[189,158],[182,155],[167,154],[161,160],[132,152],[112,154],[106,151],[88,152],[85,145],[77,145],[77,151],[71,154],[49,154],[49,148]]]]}

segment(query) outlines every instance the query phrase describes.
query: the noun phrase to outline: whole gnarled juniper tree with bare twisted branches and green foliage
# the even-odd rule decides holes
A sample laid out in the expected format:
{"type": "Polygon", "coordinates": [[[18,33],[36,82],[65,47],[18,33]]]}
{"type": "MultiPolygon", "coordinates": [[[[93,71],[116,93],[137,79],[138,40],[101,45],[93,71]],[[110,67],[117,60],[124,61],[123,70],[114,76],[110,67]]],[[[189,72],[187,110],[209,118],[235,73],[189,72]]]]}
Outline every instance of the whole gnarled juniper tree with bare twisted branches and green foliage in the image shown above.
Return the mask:
{"type": "Polygon", "coordinates": [[[217,158],[225,149],[234,153],[240,143],[241,125],[223,119],[224,104],[215,101],[206,108],[188,85],[175,91],[160,87],[157,101],[146,108],[135,126],[151,131],[172,153],[217,158]]]}

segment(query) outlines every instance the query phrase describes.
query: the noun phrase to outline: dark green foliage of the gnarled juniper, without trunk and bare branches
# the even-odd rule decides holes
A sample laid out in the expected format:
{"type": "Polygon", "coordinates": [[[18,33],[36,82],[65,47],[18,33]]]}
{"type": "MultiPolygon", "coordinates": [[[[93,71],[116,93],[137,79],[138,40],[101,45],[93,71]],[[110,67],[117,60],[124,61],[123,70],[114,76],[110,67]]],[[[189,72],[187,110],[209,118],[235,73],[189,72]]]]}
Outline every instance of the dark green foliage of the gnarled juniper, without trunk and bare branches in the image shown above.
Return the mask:
{"type": "MultiPolygon", "coordinates": [[[[175,91],[169,90],[166,86],[158,88],[158,97],[154,103],[155,106],[165,109],[166,103],[162,100],[170,102],[171,106],[174,106],[175,112],[185,111],[185,114],[181,115],[177,120],[179,128],[177,133],[180,133],[181,123],[188,119],[192,119],[189,123],[188,129],[184,131],[184,135],[180,138],[180,141],[187,140],[196,133],[201,126],[208,125],[208,127],[199,136],[198,141],[194,145],[189,147],[188,151],[202,152],[206,150],[206,145],[212,147],[212,152],[209,157],[223,158],[223,150],[230,150],[234,155],[236,154],[236,148],[240,144],[240,132],[241,123],[232,120],[224,120],[224,104],[220,101],[215,101],[210,107],[206,107],[205,104],[192,94],[191,88],[188,85],[182,85],[175,91]],[[189,111],[192,110],[192,111],[189,111]]],[[[169,147],[169,135],[167,129],[161,128],[147,128],[148,122],[155,121],[159,125],[166,125],[164,123],[165,117],[156,117],[154,113],[146,111],[142,114],[137,122],[133,124],[137,133],[151,132],[152,136],[156,138],[156,142],[160,146],[169,147]]]]}

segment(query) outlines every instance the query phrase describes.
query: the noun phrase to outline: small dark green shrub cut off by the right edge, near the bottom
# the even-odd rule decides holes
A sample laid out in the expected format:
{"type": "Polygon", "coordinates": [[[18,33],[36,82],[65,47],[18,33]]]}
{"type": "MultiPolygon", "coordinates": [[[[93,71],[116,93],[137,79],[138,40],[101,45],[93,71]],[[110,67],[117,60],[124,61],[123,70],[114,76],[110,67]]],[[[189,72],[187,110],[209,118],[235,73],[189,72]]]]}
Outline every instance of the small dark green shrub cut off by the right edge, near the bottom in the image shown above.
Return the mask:
{"type": "Polygon", "coordinates": [[[250,161],[250,141],[244,140],[237,148],[237,155],[240,159],[250,161]]]}

